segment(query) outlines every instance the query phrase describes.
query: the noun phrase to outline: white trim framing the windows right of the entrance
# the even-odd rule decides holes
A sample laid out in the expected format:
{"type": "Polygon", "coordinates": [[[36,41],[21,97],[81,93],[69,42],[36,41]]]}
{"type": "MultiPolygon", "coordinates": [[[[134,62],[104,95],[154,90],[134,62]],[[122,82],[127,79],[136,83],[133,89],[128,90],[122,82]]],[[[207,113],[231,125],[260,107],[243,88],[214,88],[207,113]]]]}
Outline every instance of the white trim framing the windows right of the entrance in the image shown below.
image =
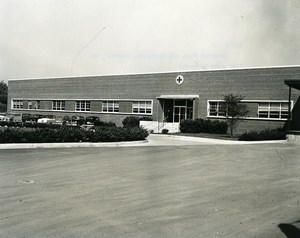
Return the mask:
{"type": "MultiPolygon", "coordinates": [[[[226,116],[210,116],[209,115],[209,109],[210,109],[210,102],[224,102],[224,100],[218,100],[218,99],[212,99],[212,100],[207,100],[207,118],[216,118],[216,119],[226,119],[226,116]]],[[[241,102],[244,103],[289,103],[288,100],[241,100],[241,102]]],[[[291,111],[293,110],[294,107],[294,101],[291,101],[291,111]]],[[[258,107],[257,107],[258,110],[258,107]]],[[[258,111],[257,111],[258,112],[258,111]]],[[[245,120],[267,120],[267,121],[287,121],[288,118],[264,118],[264,117],[242,117],[242,119],[245,120]]]]}

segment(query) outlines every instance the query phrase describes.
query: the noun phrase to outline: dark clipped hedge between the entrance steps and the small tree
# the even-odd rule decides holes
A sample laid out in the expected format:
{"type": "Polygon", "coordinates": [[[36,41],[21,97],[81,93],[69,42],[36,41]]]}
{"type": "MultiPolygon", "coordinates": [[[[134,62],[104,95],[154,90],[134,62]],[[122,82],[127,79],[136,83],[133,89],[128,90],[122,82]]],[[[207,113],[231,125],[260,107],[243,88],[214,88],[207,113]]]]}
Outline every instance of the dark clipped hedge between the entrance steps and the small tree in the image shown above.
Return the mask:
{"type": "Polygon", "coordinates": [[[182,133],[215,133],[226,134],[228,129],[227,122],[218,120],[182,120],[180,122],[180,131],[182,133]]]}

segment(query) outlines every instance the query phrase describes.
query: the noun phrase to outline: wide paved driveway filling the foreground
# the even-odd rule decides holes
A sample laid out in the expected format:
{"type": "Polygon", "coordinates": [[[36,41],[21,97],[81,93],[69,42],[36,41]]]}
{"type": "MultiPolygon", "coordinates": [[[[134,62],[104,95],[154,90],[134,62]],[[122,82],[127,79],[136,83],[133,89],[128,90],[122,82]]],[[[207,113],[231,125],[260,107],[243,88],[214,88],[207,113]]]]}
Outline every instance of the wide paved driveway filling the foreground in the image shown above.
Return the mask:
{"type": "Polygon", "coordinates": [[[1,150],[0,237],[299,234],[299,146],[169,142],[1,150]]]}

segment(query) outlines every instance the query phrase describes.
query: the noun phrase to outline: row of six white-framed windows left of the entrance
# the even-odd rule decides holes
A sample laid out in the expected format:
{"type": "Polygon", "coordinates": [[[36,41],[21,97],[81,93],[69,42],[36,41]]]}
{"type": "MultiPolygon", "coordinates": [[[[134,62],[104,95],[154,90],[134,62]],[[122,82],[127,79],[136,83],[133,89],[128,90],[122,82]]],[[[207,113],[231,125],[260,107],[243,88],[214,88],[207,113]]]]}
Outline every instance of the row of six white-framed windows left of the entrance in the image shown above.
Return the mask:
{"type": "MultiPolygon", "coordinates": [[[[23,109],[23,100],[13,100],[13,109],[23,109]]],[[[35,101],[34,105],[28,101],[28,109],[39,109],[40,101],[35,101]]],[[[66,101],[54,100],[52,101],[53,111],[65,111],[66,101]]],[[[119,101],[102,101],[103,112],[119,112],[119,101]]],[[[75,101],[75,111],[89,112],[91,111],[91,101],[75,101]]],[[[132,113],[138,114],[152,114],[152,101],[134,101],[132,102],[132,113]]]]}

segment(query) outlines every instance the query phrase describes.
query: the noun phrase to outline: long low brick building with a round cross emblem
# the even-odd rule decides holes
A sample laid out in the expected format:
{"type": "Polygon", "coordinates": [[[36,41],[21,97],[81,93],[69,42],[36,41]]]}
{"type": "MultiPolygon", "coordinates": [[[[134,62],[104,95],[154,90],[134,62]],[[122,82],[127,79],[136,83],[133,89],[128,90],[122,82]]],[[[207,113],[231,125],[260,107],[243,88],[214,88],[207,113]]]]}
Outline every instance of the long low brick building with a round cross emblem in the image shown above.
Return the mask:
{"type": "Polygon", "coordinates": [[[244,96],[249,108],[240,132],[287,124],[297,130],[298,80],[300,66],[18,79],[8,81],[8,112],[54,115],[58,120],[97,116],[117,125],[128,116],[147,116],[157,130],[176,131],[182,119],[223,120],[220,104],[232,93],[244,96]]]}

